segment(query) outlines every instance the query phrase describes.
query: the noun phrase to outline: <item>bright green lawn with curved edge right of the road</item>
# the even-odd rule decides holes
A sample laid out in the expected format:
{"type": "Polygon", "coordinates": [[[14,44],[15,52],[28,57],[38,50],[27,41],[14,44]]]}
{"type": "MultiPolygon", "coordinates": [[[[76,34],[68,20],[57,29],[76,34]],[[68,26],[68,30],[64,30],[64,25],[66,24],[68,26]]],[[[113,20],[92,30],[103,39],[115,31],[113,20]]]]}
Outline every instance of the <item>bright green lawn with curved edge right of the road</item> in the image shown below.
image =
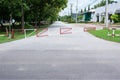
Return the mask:
{"type": "MultiPolygon", "coordinates": [[[[108,30],[94,30],[94,31],[90,31],[90,34],[108,40],[108,41],[113,41],[113,42],[118,42],[120,43],[120,36],[108,36],[108,30]]],[[[110,30],[110,34],[112,34],[112,30],[110,30]]],[[[120,30],[116,30],[115,34],[120,34],[120,30]]]]}

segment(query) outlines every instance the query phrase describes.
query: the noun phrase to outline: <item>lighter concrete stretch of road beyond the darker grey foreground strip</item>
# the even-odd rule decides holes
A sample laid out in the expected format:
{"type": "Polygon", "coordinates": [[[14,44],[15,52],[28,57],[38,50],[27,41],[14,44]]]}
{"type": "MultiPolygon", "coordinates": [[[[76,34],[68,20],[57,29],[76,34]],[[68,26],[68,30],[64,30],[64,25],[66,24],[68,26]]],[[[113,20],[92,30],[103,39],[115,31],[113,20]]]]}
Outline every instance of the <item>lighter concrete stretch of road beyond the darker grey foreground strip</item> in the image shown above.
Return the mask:
{"type": "Polygon", "coordinates": [[[120,50],[120,44],[105,41],[83,31],[82,27],[56,22],[47,37],[30,37],[0,45],[0,50],[120,50]],[[72,34],[60,35],[60,28],[72,28],[72,34]]]}

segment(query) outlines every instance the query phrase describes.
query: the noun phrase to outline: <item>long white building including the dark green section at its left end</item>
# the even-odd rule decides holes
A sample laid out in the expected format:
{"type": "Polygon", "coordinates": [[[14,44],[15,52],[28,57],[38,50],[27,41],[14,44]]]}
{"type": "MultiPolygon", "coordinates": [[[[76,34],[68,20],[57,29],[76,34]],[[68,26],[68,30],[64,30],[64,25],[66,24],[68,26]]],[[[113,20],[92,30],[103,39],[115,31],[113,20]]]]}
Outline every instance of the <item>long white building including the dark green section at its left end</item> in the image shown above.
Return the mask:
{"type": "MultiPolygon", "coordinates": [[[[120,15],[120,1],[108,5],[109,22],[113,22],[110,17],[112,14],[115,13],[120,15]]],[[[82,13],[82,15],[83,15],[82,21],[105,22],[106,6],[98,7],[96,9],[91,9],[87,12],[82,13]]]]}

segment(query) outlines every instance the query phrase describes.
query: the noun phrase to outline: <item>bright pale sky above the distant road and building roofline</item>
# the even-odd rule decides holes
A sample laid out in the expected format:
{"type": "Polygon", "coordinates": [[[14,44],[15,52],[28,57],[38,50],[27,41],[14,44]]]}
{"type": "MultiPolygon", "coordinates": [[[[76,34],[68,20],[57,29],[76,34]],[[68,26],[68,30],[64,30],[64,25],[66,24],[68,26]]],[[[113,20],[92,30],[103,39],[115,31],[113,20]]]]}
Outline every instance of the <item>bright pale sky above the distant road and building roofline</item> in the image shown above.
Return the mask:
{"type": "Polygon", "coordinates": [[[59,15],[60,16],[64,16],[64,15],[70,15],[71,13],[71,4],[73,5],[73,8],[72,8],[72,12],[73,13],[76,13],[76,5],[78,4],[78,12],[81,11],[81,9],[84,10],[85,7],[88,7],[88,5],[90,4],[91,7],[93,7],[93,5],[99,3],[101,0],[68,0],[68,3],[67,3],[67,7],[62,10],[59,15]]]}

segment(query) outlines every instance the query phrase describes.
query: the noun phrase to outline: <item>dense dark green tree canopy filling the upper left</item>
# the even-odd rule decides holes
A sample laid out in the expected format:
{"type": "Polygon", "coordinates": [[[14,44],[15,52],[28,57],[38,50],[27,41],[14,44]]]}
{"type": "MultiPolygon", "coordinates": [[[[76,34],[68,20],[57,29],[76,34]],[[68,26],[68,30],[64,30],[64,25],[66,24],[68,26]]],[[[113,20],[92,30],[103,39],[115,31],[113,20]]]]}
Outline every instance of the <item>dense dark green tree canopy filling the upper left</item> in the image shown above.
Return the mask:
{"type": "Polygon", "coordinates": [[[0,20],[56,20],[68,0],[0,0],[0,20]]]}

